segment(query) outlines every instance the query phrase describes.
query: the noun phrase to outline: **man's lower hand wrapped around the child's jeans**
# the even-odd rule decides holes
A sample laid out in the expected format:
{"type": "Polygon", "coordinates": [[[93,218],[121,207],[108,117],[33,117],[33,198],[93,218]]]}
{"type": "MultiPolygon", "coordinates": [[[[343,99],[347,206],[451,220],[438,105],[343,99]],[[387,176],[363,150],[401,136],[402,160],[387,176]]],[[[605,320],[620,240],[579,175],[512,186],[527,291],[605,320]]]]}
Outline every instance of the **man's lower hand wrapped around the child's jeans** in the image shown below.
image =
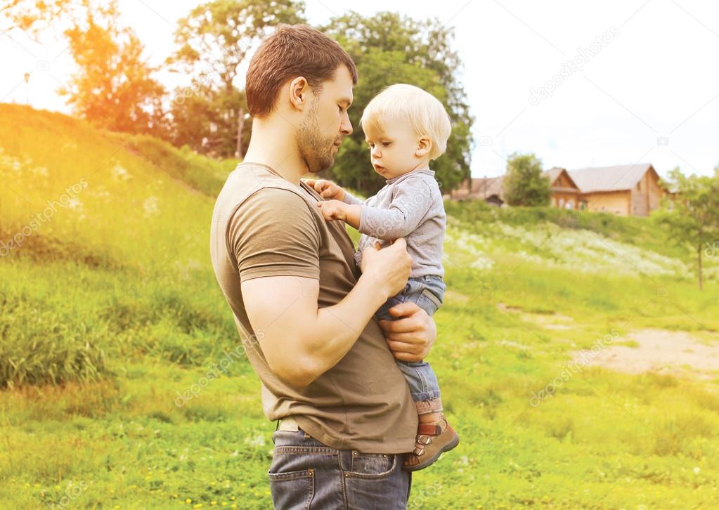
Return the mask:
{"type": "Polygon", "coordinates": [[[390,308],[390,315],[399,320],[380,320],[385,340],[396,359],[422,361],[429,354],[437,337],[432,317],[413,302],[390,308]]]}

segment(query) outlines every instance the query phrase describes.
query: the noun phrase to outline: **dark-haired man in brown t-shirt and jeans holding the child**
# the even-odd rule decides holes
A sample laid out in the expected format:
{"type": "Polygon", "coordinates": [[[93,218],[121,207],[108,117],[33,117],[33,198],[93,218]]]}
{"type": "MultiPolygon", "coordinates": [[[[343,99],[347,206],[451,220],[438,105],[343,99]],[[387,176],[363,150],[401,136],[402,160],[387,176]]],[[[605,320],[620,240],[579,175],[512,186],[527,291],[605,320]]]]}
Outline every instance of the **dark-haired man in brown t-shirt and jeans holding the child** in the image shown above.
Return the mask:
{"type": "Polygon", "coordinates": [[[413,303],[382,328],[372,314],[405,286],[406,243],[363,252],[301,181],[326,170],[352,133],[357,69],[336,42],[280,25],[247,71],[254,117],[244,162],[215,205],[211,256],[268,419],[280,419],[268,476],[279,509],[401,509],[417,416],[394,361],[419,361],[434,322],[413,303]],[[391,349],[391,351],[390,351],[391,349]]]}

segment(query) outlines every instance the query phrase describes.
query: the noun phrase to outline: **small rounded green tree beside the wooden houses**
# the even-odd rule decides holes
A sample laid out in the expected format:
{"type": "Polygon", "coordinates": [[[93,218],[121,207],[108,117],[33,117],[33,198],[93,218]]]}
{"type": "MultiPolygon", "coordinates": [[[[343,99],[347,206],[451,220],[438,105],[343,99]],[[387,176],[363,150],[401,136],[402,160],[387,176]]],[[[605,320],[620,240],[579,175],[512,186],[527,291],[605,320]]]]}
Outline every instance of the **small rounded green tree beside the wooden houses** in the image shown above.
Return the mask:
{"type": "Polygon", "coordinates": [[[542,175],[541,161],[534,154],[510,155],[503,184],[508,205],[549,205],[549,179],[542,175]]]}

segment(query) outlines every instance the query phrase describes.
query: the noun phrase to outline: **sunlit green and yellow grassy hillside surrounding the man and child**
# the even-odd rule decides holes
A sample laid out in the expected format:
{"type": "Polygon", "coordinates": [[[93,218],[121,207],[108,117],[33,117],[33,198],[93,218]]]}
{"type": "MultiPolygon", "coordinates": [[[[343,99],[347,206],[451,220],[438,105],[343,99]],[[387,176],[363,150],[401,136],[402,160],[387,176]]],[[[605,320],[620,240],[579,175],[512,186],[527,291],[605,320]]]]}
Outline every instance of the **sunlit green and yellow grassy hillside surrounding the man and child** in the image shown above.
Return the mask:
{"type": "MultiPolygon", "coordinates": [[[[240,345],[207,228],[237,162],[22,106],[0,118],[0,506],[270,507],[260,384],[244,360],[212,368],[240,345]]],[[[430,361],[462,444],[415,476],[411,508],[719,504],[718,381],[563,376],[633,329],[716,341],[717,261],[700,294],[691,254],[646,218],[446,209],[430,361]]]]}

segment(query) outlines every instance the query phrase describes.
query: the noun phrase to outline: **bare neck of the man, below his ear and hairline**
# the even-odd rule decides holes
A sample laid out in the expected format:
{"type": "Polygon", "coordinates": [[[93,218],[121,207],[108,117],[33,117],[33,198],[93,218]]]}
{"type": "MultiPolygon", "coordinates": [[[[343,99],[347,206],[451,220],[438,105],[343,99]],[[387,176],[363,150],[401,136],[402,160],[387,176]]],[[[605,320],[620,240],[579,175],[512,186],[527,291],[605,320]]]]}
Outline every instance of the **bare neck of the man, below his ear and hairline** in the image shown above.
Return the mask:
{"type": "MultiPolygon", "coordinates": [[[[286,122],[283,119],[280,121],[286,122]]],[[[293,134],[294,131],[283,125],[268,124],[255,119],[244,161],[266,164],[285,180],[299,186],[300,177],[308,172],[308,168],[300,157],[293,134]]]]}

